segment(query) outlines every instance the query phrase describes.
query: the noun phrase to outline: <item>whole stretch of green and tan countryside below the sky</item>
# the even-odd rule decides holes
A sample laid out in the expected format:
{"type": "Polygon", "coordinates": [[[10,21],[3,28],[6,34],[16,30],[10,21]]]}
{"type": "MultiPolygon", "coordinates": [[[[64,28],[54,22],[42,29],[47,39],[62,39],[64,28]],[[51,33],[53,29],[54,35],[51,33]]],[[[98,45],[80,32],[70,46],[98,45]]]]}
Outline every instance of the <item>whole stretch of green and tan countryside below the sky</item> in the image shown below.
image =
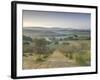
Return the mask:
{"type": "Polygon", "coordinates": [[[40,28],[37,30],[34,32],[32,29],[31,31],[27,29],[27,33],[24,32],[23,34],[23,69],[84,67],[91,65],[89,31],[53,29],[53,32],[56,33],[50,34],[49,30],[40,28]],[[49,33],[44,34],[43,30],[45,33],[49,33]],[[37,32],[40,32],[40,34],[38,33],[37,35],[37,32]]]}

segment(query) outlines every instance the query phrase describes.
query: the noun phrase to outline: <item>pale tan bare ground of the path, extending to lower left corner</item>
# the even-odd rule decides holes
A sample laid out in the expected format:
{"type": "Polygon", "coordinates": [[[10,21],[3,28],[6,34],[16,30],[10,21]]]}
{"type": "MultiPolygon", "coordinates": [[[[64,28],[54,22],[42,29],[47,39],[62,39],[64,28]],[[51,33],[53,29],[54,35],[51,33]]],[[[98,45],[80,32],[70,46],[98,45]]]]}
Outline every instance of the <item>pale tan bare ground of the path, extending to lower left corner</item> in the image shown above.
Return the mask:
{"type": "Polygon", "coordinates": [[[40,69],[40,68],[61,68],[75,66],[73,60],[67,59],[59,51],[55,51],[48,59],[44,62],[37,63],[33,60],[34,56],[30,56],[23,62],[23,69],[40,69]]]}

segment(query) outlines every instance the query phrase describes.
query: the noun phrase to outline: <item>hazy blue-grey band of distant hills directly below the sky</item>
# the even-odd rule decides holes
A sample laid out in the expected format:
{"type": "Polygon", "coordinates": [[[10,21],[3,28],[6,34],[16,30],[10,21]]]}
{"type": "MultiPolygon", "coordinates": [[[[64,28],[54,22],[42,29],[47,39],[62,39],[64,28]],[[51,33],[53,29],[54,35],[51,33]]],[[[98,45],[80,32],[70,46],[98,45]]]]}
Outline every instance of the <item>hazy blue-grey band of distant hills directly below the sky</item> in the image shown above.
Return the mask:
{"type": "Polygon", "coordinates": [[[68,35],[90,35],[90,30],[72,28],[45,28],[45,27],[23,27],[23,34],[29,37],[51,37],[68,35]]]}

